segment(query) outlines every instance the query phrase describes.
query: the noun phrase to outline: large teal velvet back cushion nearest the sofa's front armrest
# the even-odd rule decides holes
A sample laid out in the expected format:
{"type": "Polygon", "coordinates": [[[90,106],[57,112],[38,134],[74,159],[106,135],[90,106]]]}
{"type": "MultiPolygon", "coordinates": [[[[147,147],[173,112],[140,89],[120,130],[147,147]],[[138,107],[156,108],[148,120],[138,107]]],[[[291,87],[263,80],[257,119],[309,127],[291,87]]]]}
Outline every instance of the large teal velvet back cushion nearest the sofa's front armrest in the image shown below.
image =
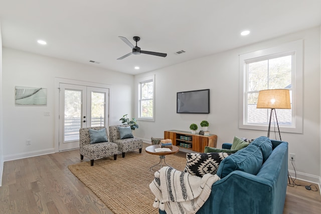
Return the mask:
{"type": "Polygon", "coordinates": [[[219,165],[217,175],[220,178],[227,176],[234,170],[257,174],[263,163],[261,149],[250,144],[246,148],[229,155],[219,165]]]}

